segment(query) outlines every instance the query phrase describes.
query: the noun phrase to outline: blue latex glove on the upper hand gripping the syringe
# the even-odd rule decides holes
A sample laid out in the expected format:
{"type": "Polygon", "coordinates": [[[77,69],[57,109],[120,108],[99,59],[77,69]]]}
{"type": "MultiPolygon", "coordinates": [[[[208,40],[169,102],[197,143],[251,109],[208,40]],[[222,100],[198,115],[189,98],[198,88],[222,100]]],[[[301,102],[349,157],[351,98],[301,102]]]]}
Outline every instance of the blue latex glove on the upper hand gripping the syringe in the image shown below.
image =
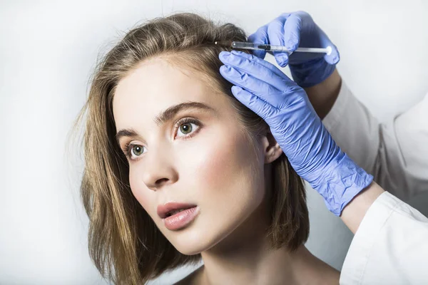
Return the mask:
{"type": "MultiPolygon", "coordinates": [[[[332,47],[329,56],[325,53],[288,53],[275,52],[277,63],[284,67],[290,66],[294,81],[302,87],[315,86],[329,77],[335,71],[335,65],[340,61],[339,51],[328,36],[315,24],[312,17],[303,11],[285,13],[258,28],[248,37],[253,43],[265,43],[286,46],[290,51],[297,47],[326,48],[332,47]]],[[[259,58],[265,58],[265,51],[254,51],[259,58]]]]}

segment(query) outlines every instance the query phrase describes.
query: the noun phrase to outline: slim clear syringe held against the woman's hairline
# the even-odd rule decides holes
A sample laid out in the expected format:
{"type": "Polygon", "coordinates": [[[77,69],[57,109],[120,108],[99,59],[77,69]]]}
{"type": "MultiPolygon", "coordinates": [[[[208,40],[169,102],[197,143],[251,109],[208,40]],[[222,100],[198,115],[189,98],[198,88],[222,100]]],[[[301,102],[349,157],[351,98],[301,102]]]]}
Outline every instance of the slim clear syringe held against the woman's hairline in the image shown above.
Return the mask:
{"type": "MultiPolygon", "coordinates": [[[[247,43],[244,41],[215,41],[216,45],[221,46],[230,46],[230,48],[238,49],[257,49],[263,51],[282,51],[286,53],[290,52],[285,46],[274,46],[269,44],[260,44],[260,43],[247,43]]],[[[294,52],[300,53],[327,53],[327,56],[332,53],[332,47],[327,46],[327,48],[297,48],[294,52]]]]}

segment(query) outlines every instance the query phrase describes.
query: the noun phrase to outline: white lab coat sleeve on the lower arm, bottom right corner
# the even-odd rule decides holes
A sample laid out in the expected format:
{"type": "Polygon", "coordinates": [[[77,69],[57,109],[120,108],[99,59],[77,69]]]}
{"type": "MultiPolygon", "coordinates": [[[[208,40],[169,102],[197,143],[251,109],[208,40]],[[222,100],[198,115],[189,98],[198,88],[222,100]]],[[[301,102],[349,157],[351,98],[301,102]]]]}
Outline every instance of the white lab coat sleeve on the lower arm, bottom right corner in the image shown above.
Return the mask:
{"type": "Polygon", "coordinates": [[[428,284],[427,257],[428,218],[384,192],[352,239],[340,284],[428,284]]]}

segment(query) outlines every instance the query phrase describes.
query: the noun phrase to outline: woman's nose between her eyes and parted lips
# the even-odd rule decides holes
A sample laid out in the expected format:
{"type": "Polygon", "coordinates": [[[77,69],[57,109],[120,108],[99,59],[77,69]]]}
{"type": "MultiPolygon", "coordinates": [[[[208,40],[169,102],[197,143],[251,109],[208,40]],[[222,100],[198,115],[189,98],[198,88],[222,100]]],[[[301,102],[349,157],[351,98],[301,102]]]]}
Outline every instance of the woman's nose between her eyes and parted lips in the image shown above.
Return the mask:
{"type": "Polygon", "coordinates": [[[173,165],[173,157],[153,147],[146,154],[146,165],[143,170],[143,182],[148,189],[157,191],[165,185],[178,180],[178,173],[173,165]]]}

